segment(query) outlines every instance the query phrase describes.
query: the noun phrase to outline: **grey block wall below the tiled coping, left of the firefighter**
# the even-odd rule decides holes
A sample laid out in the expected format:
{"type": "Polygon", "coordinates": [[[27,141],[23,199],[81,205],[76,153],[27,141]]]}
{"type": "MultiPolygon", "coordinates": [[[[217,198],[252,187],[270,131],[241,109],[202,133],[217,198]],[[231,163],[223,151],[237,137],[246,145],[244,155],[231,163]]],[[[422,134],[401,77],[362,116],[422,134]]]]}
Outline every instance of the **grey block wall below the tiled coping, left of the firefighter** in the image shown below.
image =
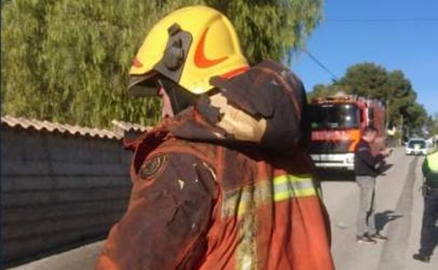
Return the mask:
{"type": "Polygon", "coordinates": [[[6,263],[107,234],[126,208],[130,159],[120,140],[2,127],[6,263]]]}

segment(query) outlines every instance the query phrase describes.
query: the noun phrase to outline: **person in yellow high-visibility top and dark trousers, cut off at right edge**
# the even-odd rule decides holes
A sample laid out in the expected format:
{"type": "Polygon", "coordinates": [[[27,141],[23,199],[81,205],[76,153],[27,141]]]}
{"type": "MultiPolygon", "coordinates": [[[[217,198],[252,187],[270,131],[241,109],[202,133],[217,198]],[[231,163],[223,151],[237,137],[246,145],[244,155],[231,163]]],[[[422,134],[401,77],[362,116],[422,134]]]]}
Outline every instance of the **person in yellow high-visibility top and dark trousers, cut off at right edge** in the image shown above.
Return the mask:
{"type": "Polygon", "coordinates": [[[423,162],[423,184],[425,206],[421,226],[420,250],[413,259],[430,262],[434,248],[438,244],[438,151],[428,155],[423,162]]]}

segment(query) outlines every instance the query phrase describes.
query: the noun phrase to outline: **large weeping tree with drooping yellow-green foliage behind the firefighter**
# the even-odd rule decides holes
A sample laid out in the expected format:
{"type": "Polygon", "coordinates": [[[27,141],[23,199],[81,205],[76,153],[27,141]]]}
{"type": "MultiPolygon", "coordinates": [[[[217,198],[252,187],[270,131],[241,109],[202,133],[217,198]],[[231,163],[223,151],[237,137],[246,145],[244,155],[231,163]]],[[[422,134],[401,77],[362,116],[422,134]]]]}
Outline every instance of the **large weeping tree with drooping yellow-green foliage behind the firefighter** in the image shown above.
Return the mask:
{"type": "Polygon", "coordinates": [[[176,8],[223,11],[251,63],[286,59],[321,19],[321,0],[1,3],[2,113],[97,127],[159,119],[159,100],[126,95],[127,73],[152,25],[176,8]]]}

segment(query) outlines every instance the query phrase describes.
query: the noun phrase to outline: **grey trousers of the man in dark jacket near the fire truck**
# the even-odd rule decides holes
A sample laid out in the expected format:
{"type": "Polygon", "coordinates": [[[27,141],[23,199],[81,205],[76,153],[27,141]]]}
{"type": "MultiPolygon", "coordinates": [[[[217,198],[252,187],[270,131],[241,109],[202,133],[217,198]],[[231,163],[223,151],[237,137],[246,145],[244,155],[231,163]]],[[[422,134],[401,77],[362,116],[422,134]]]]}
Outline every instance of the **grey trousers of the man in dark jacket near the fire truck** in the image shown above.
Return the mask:
{"type": "Polygon", "coordinates": [[[360,189],[357,235],[376,234],[376,178],[357,175],[356,182],[360,189]]]}

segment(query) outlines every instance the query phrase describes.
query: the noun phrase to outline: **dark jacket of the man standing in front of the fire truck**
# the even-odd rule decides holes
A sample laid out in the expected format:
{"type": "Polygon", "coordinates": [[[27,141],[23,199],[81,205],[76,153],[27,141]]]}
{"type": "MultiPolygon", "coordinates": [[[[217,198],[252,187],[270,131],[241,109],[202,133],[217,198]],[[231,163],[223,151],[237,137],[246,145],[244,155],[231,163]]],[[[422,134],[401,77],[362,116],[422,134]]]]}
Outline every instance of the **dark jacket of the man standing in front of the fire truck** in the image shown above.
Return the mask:
{"type": "Polygon", "coordinates": [[[376,177],[383,158],[381,154],[373,156],[369,142],[362,139],[354,150],[354,175],[376,177]]]}

